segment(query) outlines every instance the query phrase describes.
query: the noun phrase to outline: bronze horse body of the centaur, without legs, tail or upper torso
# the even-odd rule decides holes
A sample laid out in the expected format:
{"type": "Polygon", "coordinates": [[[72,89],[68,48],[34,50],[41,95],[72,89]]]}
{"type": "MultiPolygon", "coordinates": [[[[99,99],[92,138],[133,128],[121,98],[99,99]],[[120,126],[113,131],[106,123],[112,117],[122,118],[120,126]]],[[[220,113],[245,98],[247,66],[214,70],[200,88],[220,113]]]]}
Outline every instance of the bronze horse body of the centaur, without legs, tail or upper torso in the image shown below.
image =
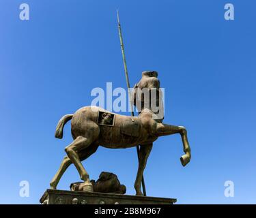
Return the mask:
{"type": "Polygon", "coordinates": [[[158,137],[157,122],[152,119],[152,112],[143,112],[139,116],[114,114],[113,126],[98,125],[98,112],[108,112],[96,106],[85,106],[77,110],[71,121],[74,140],[83,136],[92,138],[94,144],[109,149],[126,149],[138,144],[149,144],[158,137]]]}

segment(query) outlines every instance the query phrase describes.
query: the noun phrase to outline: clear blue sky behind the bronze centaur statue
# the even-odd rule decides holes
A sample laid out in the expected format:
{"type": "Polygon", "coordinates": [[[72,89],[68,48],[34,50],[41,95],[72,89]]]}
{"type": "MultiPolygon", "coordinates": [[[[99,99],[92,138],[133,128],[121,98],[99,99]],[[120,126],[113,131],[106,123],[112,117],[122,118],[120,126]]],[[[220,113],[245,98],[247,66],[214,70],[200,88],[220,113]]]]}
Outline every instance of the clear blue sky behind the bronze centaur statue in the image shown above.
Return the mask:
{"type": "MultiPolygon", "coordinates": [[[[145,170],[148,196],[180,204],[256,203],[256,2],[14,1],[0,3],[0,203],[38,204],[72,142],[63,116],[91,103],[94,87],[126,87],[117,31],[122,22],[133,85],[147,69],[165,87],[165,123],[184,125],[193,159],[183,168],[180,136],[154,143],[145,170]],[[235,20],[224,19],[224,5],[235,20]],[[19,19],[20,3],[30,20],[19,19]],[[29,198],[20,198],[20,181],[29,198]],[[235,197],[225,198],[233,181],[235,197]]],[[[127,113],[129,114],[129,113],[127,113]]],[[[134,194],[136,149],[100,147],[83,162],[91,178],[114,172],[134,194]]],[[[70,166],[59,183],[79,181],[70,166]]]]}

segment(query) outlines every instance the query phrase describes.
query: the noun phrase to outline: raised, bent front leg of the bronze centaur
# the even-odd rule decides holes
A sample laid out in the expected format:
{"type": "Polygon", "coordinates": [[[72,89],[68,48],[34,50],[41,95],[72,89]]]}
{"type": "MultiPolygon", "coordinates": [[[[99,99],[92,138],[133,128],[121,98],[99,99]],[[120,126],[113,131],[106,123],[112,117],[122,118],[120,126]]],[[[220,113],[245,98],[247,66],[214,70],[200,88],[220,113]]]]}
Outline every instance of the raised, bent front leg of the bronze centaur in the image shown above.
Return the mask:
{"type": "Polygon", "coordinates": [[[186,164],[191,159],[190,146],[188,143],[186,128],[183,126],[158,123],[156,128],[156,136],[168,136],[171,134],[180,134],[180,136],[182,136],[183,151],[185,155],[182,155],[182,157],[180,157],[180,161],[182,162],[182,166],[186,166],[186,164]]]}

